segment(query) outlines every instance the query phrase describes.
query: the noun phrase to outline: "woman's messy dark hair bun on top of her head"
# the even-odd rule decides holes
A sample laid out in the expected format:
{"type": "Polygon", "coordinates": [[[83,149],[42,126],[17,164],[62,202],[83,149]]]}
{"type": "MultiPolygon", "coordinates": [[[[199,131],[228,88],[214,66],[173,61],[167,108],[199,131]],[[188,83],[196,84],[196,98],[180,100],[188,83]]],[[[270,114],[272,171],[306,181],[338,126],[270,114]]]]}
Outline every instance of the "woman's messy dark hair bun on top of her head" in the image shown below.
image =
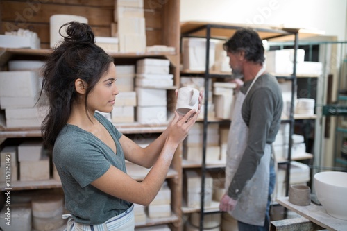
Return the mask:
{"type": "Polygon", "coordinates": [[[59,29],[59,34],[64,37],[65,42],[76,42],[78,44],[94,44],[94,33],[92,32],[92,28],[85,23],[80,22],[68,22],[62,25],[59,29]],[[62,28],[66,28],[66,34],[62,35],[62,28]]]}

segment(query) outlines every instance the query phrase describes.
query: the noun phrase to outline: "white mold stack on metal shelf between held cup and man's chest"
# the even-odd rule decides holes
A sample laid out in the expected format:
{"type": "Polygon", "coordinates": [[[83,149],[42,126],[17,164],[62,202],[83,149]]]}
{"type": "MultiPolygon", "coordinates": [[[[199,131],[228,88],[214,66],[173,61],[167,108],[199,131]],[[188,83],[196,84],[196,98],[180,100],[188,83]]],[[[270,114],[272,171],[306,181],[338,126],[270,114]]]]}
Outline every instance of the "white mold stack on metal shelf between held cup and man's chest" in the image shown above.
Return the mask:
{"type": "Polygon", "coordinates": [[[231,118],[232,99],[234,99],[235,83],[213,83],[213,102],[216,117],[219,119],[231,118]]]}

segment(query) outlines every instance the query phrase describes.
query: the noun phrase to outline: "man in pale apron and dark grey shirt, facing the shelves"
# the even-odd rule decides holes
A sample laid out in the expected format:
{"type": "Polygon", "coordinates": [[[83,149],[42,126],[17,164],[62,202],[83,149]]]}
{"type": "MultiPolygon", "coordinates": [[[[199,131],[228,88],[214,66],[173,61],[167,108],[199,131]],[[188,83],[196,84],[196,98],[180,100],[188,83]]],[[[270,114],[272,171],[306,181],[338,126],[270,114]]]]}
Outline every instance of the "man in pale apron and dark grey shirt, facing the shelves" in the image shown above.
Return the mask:
{"type": "Polygon", "coordinates": [[[276,78],[266,73],[264,47],[255,31],[237,30],[223,48],[240,89],[228,136],[226,194],[219,209],[230,212],[239,231],[269,230],[276,180],[271,143],[280,128],[282,93],[276,78]]]}

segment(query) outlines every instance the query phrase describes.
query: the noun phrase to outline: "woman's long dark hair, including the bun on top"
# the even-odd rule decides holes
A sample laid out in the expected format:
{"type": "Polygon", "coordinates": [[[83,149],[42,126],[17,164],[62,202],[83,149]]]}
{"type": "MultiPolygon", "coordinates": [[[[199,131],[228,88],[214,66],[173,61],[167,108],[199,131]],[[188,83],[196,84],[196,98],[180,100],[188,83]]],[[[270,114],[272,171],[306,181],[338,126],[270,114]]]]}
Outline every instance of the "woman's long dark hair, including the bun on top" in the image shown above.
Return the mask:
{"type": "Polygon", "coordinates": [[[66,125],[71,105],[76,100],[75,81],[87,83],[87,96],[101,76],[108,71],[113,59],[94,42],[94,33],[89,25],[68,22],[59,29],[64,40],[56,46],[43,67],[42,95],[49,101],[49,113],[41,127],[44,144],[53,148],[56,137],[66,125]],[[66,29],[65,36],[62,28],[66,29]]]}

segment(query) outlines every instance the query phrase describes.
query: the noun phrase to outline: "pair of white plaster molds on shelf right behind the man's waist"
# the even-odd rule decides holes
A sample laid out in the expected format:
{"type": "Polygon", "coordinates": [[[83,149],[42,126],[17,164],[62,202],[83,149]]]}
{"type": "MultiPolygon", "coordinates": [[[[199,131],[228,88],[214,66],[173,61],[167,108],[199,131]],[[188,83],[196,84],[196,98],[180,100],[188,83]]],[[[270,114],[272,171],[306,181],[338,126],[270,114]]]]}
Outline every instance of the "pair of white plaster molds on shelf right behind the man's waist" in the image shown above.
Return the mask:
{"type": "MultiPolygon", "coordinates": [[[[289,123],[283,123],[280,125],[280,130],[276,135],[276,139],[273,142],[273,152],[275,153],[277,160],[287,159],[289,150],[289,123]]],[[[302,135],[293,134],[291,136],[291,157],[300,156],[306,153],[306,144],[302,135]]]]}

